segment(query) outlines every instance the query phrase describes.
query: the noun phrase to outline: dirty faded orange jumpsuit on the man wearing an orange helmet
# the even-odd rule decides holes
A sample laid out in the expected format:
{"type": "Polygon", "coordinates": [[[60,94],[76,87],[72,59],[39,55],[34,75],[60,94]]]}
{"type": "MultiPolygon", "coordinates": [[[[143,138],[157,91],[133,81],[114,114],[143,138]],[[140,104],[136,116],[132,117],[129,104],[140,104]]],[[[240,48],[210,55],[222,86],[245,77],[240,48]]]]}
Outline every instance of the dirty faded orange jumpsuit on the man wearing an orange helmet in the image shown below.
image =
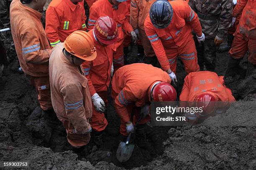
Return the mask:
{"type": "Polygon", "coordinates": [[[68,142],[73,147],[81,147],[90,141],[87,131],[92,100],[82,65],[72,64],[64,56],[63,48],[63,43],[56,45],[49,60],[51,100],[58,119],[66,128],[68,142]]]}

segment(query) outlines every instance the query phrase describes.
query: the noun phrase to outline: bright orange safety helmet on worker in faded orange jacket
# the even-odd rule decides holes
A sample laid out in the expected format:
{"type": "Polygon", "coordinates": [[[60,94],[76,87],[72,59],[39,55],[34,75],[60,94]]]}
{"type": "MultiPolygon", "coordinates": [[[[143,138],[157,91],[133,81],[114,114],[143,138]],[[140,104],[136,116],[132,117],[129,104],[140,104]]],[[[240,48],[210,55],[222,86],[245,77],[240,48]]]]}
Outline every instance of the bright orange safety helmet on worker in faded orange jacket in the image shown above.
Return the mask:
{"type": "Polygon", "coordinates": [[[64,48],[70,54],[86,61],[92,61],[97,56],[93,39],[86,31],[72,32],[64,41],[64,48]]]}

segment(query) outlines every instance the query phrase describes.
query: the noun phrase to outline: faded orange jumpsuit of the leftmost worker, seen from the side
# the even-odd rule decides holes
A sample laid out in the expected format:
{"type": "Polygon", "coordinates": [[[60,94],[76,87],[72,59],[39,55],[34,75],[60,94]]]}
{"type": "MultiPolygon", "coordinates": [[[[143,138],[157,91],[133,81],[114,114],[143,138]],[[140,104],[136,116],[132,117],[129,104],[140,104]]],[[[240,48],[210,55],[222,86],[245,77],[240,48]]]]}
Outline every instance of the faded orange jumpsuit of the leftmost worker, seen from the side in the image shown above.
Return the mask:
{"type": "Polygon", "coordinates": [[[51,47],[41,23],[41,13],[13,0],[10,5],[10,24],[20,67],[31,84],[36,87],[38,101],[43,110],[49,110],[49,57],[51,47]]]}

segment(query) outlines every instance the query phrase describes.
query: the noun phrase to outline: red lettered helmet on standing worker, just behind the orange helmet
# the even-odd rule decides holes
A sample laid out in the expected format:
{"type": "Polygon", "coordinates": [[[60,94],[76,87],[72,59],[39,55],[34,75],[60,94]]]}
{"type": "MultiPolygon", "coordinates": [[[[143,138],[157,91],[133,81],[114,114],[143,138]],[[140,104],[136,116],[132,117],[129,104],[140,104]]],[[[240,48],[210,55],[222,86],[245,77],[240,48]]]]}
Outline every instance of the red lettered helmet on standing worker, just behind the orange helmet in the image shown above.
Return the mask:
{"type": "Polygon", "coordinates": [[[93,32],[97,39],[105,45],[110,45],[118,40],[118,26],[109,16],[97,19],[93,32]]]}

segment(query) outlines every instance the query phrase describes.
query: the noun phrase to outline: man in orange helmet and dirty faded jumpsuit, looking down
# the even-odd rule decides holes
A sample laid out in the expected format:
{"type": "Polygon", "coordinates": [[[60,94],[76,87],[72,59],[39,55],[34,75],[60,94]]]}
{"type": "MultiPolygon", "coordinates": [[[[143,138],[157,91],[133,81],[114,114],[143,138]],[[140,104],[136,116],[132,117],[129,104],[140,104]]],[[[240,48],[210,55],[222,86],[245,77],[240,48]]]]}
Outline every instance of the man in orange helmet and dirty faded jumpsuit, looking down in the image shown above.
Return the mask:
{"type": "Polygon", "coordinates": [[[53,48],[49,60],[51,101],[78,155],[84,154],[92,131],[92,100],[82,63],[96,58],[92,37],[78,30],[53,48]]]}

